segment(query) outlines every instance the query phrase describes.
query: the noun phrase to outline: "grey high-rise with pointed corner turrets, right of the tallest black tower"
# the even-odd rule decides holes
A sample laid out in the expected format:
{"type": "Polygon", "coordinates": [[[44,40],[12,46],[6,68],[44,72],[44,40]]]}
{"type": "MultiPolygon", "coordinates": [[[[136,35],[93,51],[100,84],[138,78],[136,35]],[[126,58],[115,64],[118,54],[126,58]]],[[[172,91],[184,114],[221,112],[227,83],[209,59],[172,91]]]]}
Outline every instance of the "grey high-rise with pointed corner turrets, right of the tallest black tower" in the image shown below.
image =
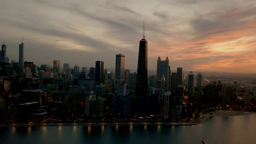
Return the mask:
{"type": "Polygon", "coordinates": [[[169,59],[166,57],[165,61],[161,61],[161,58],[158,57],[158,64],[156,68],[156,82],[158,83],[158,88],[162,83],[162,77],[165,78],[166,87],[165,89],[169,89],[170,87],[170,77],[169,77],[169,59]]]}

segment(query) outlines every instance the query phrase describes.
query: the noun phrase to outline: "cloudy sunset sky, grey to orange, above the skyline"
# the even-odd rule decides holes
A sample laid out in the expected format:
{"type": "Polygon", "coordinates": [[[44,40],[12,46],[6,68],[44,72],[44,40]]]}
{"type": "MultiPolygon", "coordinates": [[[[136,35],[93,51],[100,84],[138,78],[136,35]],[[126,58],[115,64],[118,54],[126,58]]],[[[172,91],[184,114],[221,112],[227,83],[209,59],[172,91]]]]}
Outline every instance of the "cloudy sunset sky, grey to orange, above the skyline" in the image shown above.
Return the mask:
{"type": "Polygon", "coordinates": [[[172,70],[256,73],[255,0],[67,1],[3,0],[0,39],[7,56],[18,62],[24,37],[25,61],[71,67],[137,68],[143,21],[148,40],[148,69],[160,56],[172,70]]]}

